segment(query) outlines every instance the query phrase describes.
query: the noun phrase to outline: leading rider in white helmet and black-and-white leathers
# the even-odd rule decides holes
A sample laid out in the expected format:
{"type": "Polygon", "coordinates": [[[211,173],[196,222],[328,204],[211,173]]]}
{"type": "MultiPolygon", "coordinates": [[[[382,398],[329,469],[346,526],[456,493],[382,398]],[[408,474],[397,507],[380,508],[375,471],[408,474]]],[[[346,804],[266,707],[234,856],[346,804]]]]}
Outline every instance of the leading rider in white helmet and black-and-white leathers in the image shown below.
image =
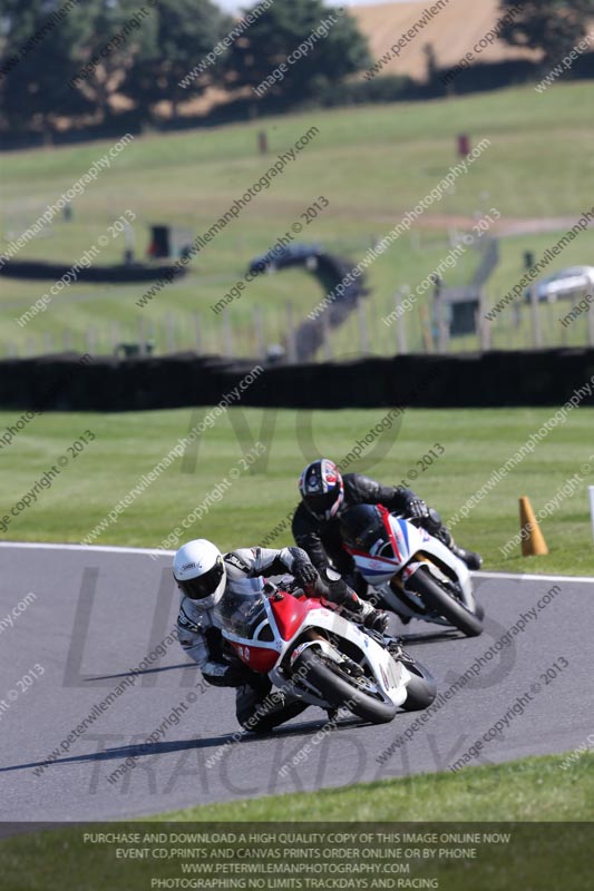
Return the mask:
{"type": "Polygon", "coordinates": [[[226,645],[215,610],[226,590],[256,576],[291,575],[306,595],[324,596],[353,614],[353,618],[379,630],[386,628],[386,614],[361,600],[342,579],[320,579],[318,570],[301,548],[280,550],[240,548],[223,556],[204,538],[179,548],[173,575],[181,591],[177,629],[184,652],[199,666],[213,686],[235,687],[238,723],[254,732],[265,732],[299,715],[306,704],[279,692],[265,675],[252,672],[226,645]],[[263,707],[265,703],[265,707],[263,707]]]}

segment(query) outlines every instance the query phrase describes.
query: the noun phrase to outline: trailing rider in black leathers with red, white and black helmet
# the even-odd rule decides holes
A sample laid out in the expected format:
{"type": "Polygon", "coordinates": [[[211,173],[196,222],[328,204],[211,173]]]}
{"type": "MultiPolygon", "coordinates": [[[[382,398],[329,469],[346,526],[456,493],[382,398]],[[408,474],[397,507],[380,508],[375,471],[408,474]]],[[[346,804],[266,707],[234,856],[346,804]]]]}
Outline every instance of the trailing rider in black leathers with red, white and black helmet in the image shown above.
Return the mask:
{"type": "Polygon", "coordinates": [[[359,594],[364,594],[362,579],[353,575],[354,564],[342,548],[340,532],[341,511],[353,505],[383,505],[388,510],[415,520],[464,560],[469,569],[480,569],[480,555],[456,545],[439,513],[410,489],[381,486],[361,473],[342,477],[333,461],[321,458],[303,470],[299,491],[302,501],[293,515],[295,542],[306,551],[319,571],[332,564],[359,594]]]}

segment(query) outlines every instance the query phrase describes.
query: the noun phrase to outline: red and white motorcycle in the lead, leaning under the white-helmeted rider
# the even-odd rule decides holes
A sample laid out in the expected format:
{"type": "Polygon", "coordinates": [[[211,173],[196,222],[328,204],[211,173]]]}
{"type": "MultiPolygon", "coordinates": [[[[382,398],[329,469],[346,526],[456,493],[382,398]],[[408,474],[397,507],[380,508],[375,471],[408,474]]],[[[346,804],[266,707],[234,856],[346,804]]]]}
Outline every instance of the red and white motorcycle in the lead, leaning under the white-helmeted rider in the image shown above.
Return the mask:
{"type": "Polygon", "coordinates": [[[289,587],[234,582],[216,607],[224,638],[253,672],[310,705],[347,708],[372,724],[434,702],[432,676],[396,638],[382,640],[289,587]]]}

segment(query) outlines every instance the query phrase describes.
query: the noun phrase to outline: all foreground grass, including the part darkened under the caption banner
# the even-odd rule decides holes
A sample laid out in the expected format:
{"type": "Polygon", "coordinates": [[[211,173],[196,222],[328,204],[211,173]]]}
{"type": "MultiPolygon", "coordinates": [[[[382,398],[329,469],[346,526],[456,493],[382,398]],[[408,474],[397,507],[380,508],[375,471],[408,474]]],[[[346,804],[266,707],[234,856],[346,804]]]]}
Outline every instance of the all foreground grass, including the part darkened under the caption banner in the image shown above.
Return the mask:
{"type": "MultiPolygon", "coordinates": [[[[321,829],[320,823],[328,830],[349,829],[342,824],[332,826],[331,821],[359,823],[360,829],[367,831],[447,831],[459,832],[461,836],[478,829],[498,833],[510,831],[510,845],[479,845],[476,862],[417,862],[413,874],[438,874],[439,887],[446,891],[507,891],[510,887],[526,891],[551,891],[558,887],[567,891],[585,891],[592,871],[591,826],[587,821],[592,819],[594,760],[592,755],[583,755],[571,771],[563,771],[562,764],[563,756],[527,758],[493,767],[467,768],[456,775],[425,774],[348,789],[321,790],[315,795],[280,795],[194,807],[148,817],[146,825],[142,821],[100,824],[95,831],[134,831],[143,835],[145,829],[158,833],[164,829],[163,823],[167,823],[171,824],[168,832],[175,833],[182,830],[181,821],[186,823],[186,830],[193,832],[203,831],[199,824],[204,823],[204,829],[220,833],[232,829],[244,832],[269,830],[263,823],[282,830],[282,824],[289,821],[304,821],[304,831],[321,829]],[[544,825],[548,821],[555,821],[555,825],[544,825]],[[559,825],[565,821],[566,828],[559,825]],[[586,825],[578,825],[581,822],[586,825]],[[227,826],[227,823],[235,825],[227,826]],[[237,823],[241,826],[236,826],[237,823]],[[391,825],[386,826],[386,823],[391,825]]],[[[300,826],[292,829],[299,832],[300,826]]],[[[92,828],[87,825],[84,830],[92,831],[92,828]]],[[[124,888],[136,891],[159,887],[152,883],[179,872],[178,862],[117,859],[116,845],[85,844],[81,836],[82,829],[78,828],[26,833],[2,840],[3,891],[60,891],[71,887],[74,874],[85,875],[85,891],[119,891],[124,888]]],[[[179,845],[169,842],[168,846],[179,845]]],[[[206,849],[203,846],[202,850],[206,849]]],[[[237,856],[241,855],[240,852],[237,856]]],[[[323,860],[321,851],[318,860],[323,860]]],[[[273,882],[272,877],[266,884],[252,887],[282,887],[270,882],[273,882]]]]}

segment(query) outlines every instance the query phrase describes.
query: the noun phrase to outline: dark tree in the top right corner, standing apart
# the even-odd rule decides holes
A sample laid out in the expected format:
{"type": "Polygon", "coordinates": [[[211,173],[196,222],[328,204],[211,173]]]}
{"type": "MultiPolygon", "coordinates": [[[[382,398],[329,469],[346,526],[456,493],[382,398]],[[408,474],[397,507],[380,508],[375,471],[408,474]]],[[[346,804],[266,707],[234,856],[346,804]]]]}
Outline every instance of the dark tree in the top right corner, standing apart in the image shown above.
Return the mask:
{"type": "Polygon", "coordinates": [[[508,16],[502,38],[514,47],[541,49],[544,63],[556,62],[585,37],[594,17],[594,0],[499,0],[508,16]]]}

